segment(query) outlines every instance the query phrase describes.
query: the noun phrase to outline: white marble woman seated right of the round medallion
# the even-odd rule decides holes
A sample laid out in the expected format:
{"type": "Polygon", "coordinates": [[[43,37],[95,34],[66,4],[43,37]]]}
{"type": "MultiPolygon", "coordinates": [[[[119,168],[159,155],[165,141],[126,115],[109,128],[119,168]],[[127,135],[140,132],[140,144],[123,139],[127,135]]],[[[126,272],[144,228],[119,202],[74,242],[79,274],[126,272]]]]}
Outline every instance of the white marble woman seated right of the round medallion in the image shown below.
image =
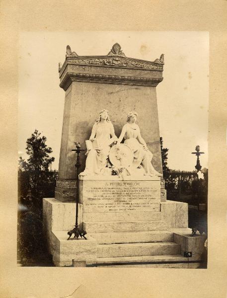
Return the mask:
{"type": "Polygon", "coordinates": [[[127,115],[127,123],[123,126],[117,145],[124,140],[124,144],[130,147],[134,154],[132,170],[143,167],[146,176],[162,176],[151,164],[153,154],[147,148],[147,144],[141,136],[140,128],[136,124],[137,112],[131,111],[127,115]]]}

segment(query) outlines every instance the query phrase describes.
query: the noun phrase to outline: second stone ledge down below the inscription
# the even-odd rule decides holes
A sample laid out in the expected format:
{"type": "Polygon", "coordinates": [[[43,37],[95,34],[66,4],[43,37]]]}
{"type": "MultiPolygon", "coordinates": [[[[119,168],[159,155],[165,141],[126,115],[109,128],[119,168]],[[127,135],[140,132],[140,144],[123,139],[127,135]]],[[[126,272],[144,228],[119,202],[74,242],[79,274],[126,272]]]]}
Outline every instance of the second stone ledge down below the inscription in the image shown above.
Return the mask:
{"type": "Polygon", "coordinates": [[[85,223],[83,223],[83,229],[85,229],[87,233],[154,231],[154,230],[166,230],[166,223],[163,221],[85,222],[85,223]]]}

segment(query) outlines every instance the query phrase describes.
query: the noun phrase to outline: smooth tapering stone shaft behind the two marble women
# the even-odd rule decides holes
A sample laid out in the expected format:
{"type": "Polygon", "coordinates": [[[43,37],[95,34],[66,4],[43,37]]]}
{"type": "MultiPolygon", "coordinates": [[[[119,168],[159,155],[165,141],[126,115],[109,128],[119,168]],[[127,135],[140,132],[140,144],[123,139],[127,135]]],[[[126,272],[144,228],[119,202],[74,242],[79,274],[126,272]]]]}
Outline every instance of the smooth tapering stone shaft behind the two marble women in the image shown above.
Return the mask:
{"type": "MultiPolygon", "coordinates": [[[[93,68],[97,70],[97,67],[93,68]]],[[[105,68],[104,72],[107,69],[105,68]]],[[[121,72],[120,69],[118,72],[121,72]]],[[[90,137],[95,117],[103,108],[110,111],[111,121],[118,137],[126,123],[128,111],[138,112],[142,136],[153,153],[152,164],[160,172],[162,165],[155,87],[73,81],[65,97],[59,178],[75,179],[76,156],[71,151],[74,148],[74,142],[75,140],[80,142],[81,147],[85,148],[85,140],[90,137]],[[122,105],[123,101],[124,105],[122,105]],[[145,106],[146,117],[144,117],[145,106]]],[[[83,171],[85,155],[80,154],[80,156],[81,171],[83,171]]]]}

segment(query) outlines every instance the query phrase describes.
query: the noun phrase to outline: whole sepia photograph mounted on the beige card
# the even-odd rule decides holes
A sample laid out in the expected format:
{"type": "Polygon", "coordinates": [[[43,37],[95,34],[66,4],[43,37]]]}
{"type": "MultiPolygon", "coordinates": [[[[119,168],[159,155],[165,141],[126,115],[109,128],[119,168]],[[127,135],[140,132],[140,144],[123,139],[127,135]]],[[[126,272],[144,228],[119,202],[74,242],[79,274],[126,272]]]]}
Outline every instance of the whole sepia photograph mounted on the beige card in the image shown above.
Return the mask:
{"type": "Polygon", "coordinates": [[[24,31],[18,55],[17,266],[206,269],[209,32],[24,31]]]}

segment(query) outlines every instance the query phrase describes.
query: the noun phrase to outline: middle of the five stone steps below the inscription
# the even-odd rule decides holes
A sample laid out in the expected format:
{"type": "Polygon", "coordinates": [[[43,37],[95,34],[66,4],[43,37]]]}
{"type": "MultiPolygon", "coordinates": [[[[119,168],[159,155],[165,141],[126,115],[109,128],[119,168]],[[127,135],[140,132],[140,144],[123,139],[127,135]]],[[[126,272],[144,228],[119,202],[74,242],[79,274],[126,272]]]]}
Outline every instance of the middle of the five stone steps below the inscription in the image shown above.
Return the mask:
{"type": "Polygon", "coordinates": [[[173,233],[169,231],[103,232],[89,235],[96,239],[98,244],[173,241],[173,233]]]}

